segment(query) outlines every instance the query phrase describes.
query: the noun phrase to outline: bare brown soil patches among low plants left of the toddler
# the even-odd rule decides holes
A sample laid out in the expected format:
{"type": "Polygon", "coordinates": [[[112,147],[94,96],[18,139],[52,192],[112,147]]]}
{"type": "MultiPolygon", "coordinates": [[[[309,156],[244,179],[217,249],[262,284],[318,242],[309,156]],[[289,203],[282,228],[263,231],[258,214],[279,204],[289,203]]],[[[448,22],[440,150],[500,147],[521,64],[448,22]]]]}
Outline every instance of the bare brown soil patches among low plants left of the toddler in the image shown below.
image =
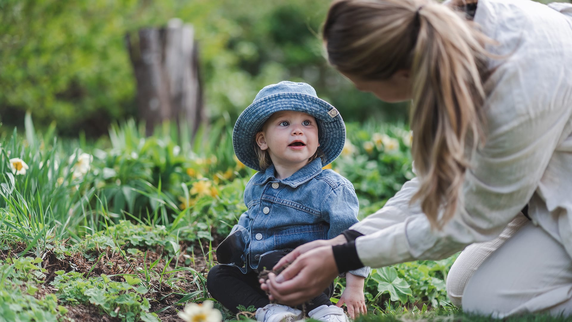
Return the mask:
{"type": "MultiPolygon", "coordinates": [[[[142,251],[140,254],[137,256],[128,254],[127,258],[120,253],[114,252],[114,250],[110,248],[101,249],[99,253],[92,254],[96,255],[96,258],[99,258],[97,262],[87,260],[82,253],[74,253],[71,256],[66,255],[64,260],[59,260],[54,253],[49,251],[42,261],[43,268],[47,270],[47,272],[45,272],[46,279],[45,282],[43,282],[43,287],[40,288],[39,292],[37,292],[35,296],[43,298],[46,294],[55,293],[57,291],[50,285],[50,282],[53,281],[55,272],[58,270],[64,270],[65,272],[71,272],[74,270],[76,272],[89,273],[89,277],[101,276],[101,274],[106,274],[108,276],[115,274],[137,274],[141,280],[145,280],[145,263],[146,269],[148,270],[150,263],[159,260],[150,273],[151,287],[149,293],[146,294],[146,297],[148,297],[151,304],[150,311],[158,311],[162,308],[173,305],[185,296],[185,294],[194,292],[197,290],[197,286],[204,289],[204,283],[201,282],[200,278],[197,278],[196,274],[190,270],[164,274],[160,281],[162,272],[168,272],[169,270],[173,270],[177,267],[185,266],[193,268],[196,272],[204,276],[204,274],[208,272],[210,266],[212,266],[208,262],[208,259],[202,255],[208,253],[209,249],[208,243],[205,242],[204,244],[205,245],[193,245],[194,256],[192,254],[188,254],[193,258],[193,261],[189,265],[185,265],[185,260],[187,260],[188,256],[185,256],[185,253],[181,253],[178,258],[173,258],[170,261],[167,268],[165,268],[165,265],[168,258],[163,256],[164,252],[162,248],[152,250],[140,249],[142,251]],[[176,264],[177,267],[175,266],[176,264]],[[143,270],[139,270],[138,268],[142,268],[143,270]],[[170,286],[165,284],[165,280],[171,280],[174,282],[172,283],[172,286],[170,286]]],[[[219,242],[213,242],[213,245],[218,244],[219,242]]],[[[188,245],[181,245],[181,249],[185,250],[187,249],[187,246],[188,245]]],[[[17,257],[17,254],[25,249],[26,245],[19,243],[11,250],[1,251],[0,258],[6,259],[9,257],[17,257]]],[[[216,260],[214,252],[213,260],[216,260]]],[[[113,276],[110,278],[115,281],[125,281],[122,276],[113,276]]],[[[102,313],[100,309],[91,304],[73,306],[65,305],[65,307],[69,310],[66,317],[76,321],[120,321],[115,317],[110,317],[109,315],[102,313]]],[[[177,316],[177,311],[182,308],[183,307],[181,305],[173,305],[172,307],[165,309],[165,311],[157,313],[157,315],[162,321],[181,321],[180,317],[177,316]]]]}

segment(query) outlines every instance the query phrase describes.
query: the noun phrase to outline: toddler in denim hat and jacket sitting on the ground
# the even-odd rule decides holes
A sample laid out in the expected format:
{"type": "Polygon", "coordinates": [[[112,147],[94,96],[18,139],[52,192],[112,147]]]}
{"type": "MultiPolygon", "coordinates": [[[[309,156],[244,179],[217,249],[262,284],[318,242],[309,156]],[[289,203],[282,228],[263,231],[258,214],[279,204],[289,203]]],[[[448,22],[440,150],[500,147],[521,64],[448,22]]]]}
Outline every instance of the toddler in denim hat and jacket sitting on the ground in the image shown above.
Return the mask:
{"type": "MultiPolygon", "coordinates": [[[[259,172],[244,191],[248,210],[217,248],[220,264],[209,271],[207,288],[234,313],[239,305],[254,305],[258,321],[299,320],[300,308],[269,303],[258,273],[271,270],[297,246],[336,237],[358,222],[352,184],[322,168],[344,147],[344,121],[310,85],[282,81],[261,89],[236,121],[232,140],[237,158],[259,172]]],[[[330,301],[332,282],[309,301],[308,316],[345,322],[344,303],[352,318],[365,313],[363,285],[369,270],[345,276],[347,286],[337,306],[330,301]]]]}

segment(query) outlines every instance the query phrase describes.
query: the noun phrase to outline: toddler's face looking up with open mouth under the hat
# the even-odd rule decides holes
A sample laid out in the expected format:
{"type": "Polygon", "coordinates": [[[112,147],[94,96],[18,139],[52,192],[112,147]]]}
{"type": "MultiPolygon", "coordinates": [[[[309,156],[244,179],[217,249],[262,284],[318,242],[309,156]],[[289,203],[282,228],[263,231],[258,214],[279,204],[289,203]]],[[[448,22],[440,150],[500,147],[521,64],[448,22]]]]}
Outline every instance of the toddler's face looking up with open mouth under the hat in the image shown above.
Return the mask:
{"type": "Polygon", "coordinates": [[[302,112],[274,113],[256,134],[256,143],[268,150],[275,166],[301,168],[320,146],[316,119],[302,112]]]}

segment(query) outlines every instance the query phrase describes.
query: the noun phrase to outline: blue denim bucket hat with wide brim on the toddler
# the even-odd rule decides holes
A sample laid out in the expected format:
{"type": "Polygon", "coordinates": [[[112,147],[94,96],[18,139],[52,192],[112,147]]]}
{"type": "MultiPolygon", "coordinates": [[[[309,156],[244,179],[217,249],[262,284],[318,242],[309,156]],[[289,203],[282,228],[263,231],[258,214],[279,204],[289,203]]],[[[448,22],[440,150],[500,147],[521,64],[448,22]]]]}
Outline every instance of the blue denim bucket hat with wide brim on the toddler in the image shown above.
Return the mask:
{"type": "Polygon", "coordinates": [[[262,170],[255,152],[255,135],[273,113],[280,111],[303,112],[315,117],[320,149],[325,155],[324,166],[340,155],[345,143],[345,125],[337,109],[319,99],[310,85],[281,81],[261,89],[236,120],[232,145],[240,162],[254,170],[262,170]]]}

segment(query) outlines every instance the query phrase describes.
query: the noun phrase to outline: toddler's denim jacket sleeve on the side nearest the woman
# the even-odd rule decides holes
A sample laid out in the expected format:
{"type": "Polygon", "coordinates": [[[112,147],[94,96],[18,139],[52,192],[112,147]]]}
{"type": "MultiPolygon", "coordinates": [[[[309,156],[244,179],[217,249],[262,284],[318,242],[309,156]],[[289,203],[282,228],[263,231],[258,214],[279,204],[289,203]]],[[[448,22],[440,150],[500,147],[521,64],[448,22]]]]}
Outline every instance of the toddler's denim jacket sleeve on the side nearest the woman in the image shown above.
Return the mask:
{"type": "MultiPolygon", "coordinates": [[[[334,238],[358,222],[359,202],[358,196],[352,186],[341,184],[327,195],[321,207],[321,214],[329,223],[328,239],[334,238]]],[[[369,267],[350,270],[356,276],[367,277],[369,267]]]]}

